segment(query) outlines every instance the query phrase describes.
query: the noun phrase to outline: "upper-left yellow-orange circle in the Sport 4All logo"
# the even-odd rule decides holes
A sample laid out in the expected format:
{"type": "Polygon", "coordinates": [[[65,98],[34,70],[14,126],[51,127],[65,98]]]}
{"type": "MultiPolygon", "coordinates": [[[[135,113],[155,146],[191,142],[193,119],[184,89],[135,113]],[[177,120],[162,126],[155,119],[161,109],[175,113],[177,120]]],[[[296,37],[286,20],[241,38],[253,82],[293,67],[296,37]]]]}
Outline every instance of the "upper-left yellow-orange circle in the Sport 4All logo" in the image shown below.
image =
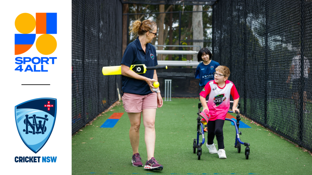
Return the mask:
{"type": "Polygon", "coordinates": [[[15,19],[15,28],[22,34],[32,32],[36,27],[35,18],[29,13],[22,13],[15,19]]]}

